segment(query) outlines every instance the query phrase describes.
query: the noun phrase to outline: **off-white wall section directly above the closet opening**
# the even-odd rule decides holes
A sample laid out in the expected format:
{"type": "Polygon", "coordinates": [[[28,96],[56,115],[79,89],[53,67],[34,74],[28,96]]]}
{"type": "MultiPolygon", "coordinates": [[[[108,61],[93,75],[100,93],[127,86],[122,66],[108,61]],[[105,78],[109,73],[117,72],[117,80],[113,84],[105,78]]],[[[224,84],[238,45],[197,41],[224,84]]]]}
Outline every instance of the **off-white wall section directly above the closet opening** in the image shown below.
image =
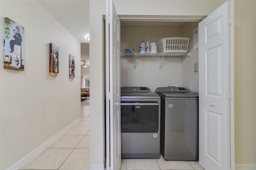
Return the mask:
{"type": "Polygon", "coordinates": [[[118,15],[207,16],[226,0],[114,0],[118,15]]]}

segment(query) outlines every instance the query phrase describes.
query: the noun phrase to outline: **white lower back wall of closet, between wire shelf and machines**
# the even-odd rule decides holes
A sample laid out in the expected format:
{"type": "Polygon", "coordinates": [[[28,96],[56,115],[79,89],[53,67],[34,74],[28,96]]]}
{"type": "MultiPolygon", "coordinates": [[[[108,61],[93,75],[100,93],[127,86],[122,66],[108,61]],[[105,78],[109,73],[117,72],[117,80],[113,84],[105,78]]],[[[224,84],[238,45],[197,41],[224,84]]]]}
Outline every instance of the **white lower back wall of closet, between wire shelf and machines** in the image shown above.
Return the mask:
{"type": "MultiPolygon", "coordinates": [[[[157,60],[161,58],[157,58],[157,60]]],[[[121,87],[140,86],[149,87],[155,91],[157,87],[166,85],[182,86],[182,63],[166,63],[160,70],[160,61],[138,61],[136,69],[134,63],[121,62],[121,87]]]]}

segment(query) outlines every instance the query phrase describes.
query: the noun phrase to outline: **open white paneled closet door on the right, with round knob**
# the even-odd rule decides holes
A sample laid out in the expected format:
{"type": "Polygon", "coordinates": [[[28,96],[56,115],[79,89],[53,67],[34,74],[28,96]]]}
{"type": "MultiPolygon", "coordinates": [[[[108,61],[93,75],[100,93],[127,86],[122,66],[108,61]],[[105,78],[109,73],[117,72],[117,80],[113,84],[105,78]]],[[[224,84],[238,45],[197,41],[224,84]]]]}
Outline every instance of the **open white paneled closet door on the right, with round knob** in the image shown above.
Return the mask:
{"type": "Polygon", "coordinates": [[[230,169],[230,2],[199,23],[199,164],[230,169]]]}

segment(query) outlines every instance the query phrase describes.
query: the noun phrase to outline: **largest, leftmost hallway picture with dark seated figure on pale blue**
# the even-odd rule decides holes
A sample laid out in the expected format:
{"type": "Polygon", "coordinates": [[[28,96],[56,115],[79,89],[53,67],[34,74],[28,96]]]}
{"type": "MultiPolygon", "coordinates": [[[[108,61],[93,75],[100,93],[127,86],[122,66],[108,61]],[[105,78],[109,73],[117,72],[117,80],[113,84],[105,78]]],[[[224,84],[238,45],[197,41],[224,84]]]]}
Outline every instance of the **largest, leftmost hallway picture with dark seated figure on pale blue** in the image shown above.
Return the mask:
{"type": "Polygon", "coordinates": [[[4,69],[24,71],[24,27],[4,18],[4,69]]]}

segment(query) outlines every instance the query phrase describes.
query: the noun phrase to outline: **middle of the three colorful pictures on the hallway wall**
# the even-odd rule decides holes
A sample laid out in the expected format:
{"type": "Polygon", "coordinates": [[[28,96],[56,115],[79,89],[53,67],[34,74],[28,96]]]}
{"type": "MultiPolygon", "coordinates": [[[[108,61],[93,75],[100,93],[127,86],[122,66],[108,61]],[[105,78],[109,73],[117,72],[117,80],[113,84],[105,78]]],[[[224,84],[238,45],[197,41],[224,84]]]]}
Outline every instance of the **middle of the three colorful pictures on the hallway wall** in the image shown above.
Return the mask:
{"type": "Polygon", "coordinates": [[[59,75],[59,47],[50,43],[50,75],[59,75]]]}

